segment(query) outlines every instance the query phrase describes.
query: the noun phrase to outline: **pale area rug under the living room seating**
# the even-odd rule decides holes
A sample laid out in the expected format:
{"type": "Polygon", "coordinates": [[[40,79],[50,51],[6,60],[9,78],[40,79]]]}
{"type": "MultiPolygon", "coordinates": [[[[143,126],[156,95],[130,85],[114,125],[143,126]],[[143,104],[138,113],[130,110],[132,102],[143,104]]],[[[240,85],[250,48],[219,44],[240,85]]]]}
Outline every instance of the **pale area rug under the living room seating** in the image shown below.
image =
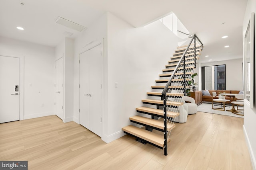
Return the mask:
{"type": "MultiPolygon", "coordinates": [[[[227,115],[227,116],[233,116],[233,117],[241,117],[241,118],[244,117],[241,115],[236,115],[230,111],[226,111],[229,109],[231,109],[231,106],[230,106],[230,108],[226,107],[225,111],[215,110],[215,109],[212,109],[212,104],[208,104],[208,103],[203,103],[203,104],[200,104],[197,106],[197,111],[200,111],[200,112],[213,113],[213,114],[218,114],[218,115],[227,115]]],[[[243,109],[243,107],[238,107],[238,109],[243,109]]],[[[239,111],[243,112],[243,110],[239,110],[239,111]]]]}

